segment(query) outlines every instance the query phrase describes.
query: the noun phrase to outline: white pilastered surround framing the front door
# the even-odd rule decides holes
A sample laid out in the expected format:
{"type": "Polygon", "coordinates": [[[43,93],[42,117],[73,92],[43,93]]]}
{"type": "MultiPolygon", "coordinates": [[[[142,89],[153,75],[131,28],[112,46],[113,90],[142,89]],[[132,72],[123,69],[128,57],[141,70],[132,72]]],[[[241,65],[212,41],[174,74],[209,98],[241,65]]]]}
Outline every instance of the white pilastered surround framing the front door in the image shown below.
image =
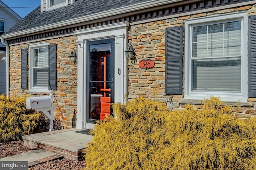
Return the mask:
{"type": "Polygon", "coordinates": [[[124,104],[127,100],[126,94],[128,94],[128,66],[127,59],[125,57],[125,49],[128,42],[128,27],[130,23],[128,21],[113,23],[109,25],[101,25],[98,27],[86,28],[78,31],[74,31],[77,36],[78,43],[78,55],[77,55],[77,129],[94,129],[94,123],[86,123],[86,68],[87,68],[87,56],[86,56],[86,43],[88,41],[100,40],[100,39],[114,39],[114,84],[115,103],[120,102],[124,104]],[[118,73],[118,69],[120,69],[118,73]]]}

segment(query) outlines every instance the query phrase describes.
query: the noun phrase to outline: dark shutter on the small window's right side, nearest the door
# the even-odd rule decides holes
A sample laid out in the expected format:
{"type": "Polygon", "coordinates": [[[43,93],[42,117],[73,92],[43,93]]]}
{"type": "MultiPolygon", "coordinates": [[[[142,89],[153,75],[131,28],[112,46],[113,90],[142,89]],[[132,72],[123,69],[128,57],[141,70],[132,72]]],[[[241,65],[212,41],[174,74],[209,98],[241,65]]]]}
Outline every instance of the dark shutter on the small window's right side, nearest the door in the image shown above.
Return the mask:
{"type": "Polygon", "coordinates": [[[49,90],[57,90],[56,51],[56,44],[49,45],[49,90]]]}

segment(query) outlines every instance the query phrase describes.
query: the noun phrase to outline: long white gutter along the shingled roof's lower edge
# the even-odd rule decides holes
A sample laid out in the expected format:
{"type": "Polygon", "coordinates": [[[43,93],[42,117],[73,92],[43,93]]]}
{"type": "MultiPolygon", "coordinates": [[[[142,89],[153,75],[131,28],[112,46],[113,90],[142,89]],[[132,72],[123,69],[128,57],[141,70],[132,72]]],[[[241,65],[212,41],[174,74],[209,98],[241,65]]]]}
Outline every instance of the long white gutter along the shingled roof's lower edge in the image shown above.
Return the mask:
{"type": "MultiPolygon", "coordinates": [[[[190,0],[190,2],[197,2],[197,1],[200,1],[200,0],[190,0]]],[[[75,18],[75,19],[70,19],[70,20],[61,21],[61,22],[58,22],[58,23],[52,23],[52,24],[49,24],[49,25],[41,26],[41,27],[26,29],[24,31],[18,31],[18,32],[15,32],[15,33],[2,35],[2,36],[0,36],[0,38],[9,39],[9,38],[12,38],[12,37],[27,35],[27,34],[30,34],[30,33],[36,33],[38,31],[46,31],[48,29],[54,29],[54,28],[58,28],[58,27],[64,27],[64,26],[67,26],[67,25],[73,25],[73,24],[76,24],[76,23],[82,23],[82,22],[86,22],[86,21],[97,20],[97,19],[100,19],[100,18],[105,18],[105,17],[114,16],[114,15],[118,15],[118,14],[134,12],[136,10],[143,10],[145,8],[154,8],[154,9],[156,9],[157,6],[162,6],[162,5],[166,5],[166,4],[174,4],[174,3],[186,4],[187,2],[186,2],[186,0],[151,0],[151,1],[148,1],[148,2],[142,2],[140,4],[134,4],[134,5],[118,8],[118,9],[99,12],[97,14],[91,14],[91,15],[82,16],[82,17],[75,18]]]]}

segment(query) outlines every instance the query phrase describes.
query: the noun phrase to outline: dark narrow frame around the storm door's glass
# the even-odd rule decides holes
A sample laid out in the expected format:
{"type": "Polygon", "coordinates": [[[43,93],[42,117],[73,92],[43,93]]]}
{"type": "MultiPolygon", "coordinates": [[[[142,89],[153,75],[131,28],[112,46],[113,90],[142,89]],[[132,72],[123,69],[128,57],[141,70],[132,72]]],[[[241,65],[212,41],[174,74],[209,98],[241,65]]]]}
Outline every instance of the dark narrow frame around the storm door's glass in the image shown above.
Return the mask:
{"type": "MultiPolygon", "coordinates": [[[[114,87],[115,87],[115,84],[114,84],[114,80],[115,80],[115,76],[114,76],[114,58],[115,58],[115,54],[114,54],[114,38],[111,38],[111,39],[100,39],[100,40],[92,40],[92,41],[88,41],[86,43],[86,56],[87,56],[87,70],[86,70],[86,91],[88,92],[86,94],[86,98],[87,98],[87,111],[86,111],[86,123],[96,123],[96,119],[90,119],[89,118],[89,114],[90,114],[90,103],[91,103],[91,98],[90,98],[90,45],[97,45],[97,44],[104,44],[104,43],[110,43],[111,44],[111,48],[110,48],[110,78],[112,78],[112,86],[111,86],[111,91],[110,91],[110,103],[114,103],[114,94],[115,94],[115,91],[114,91],[114,87]]],[[[112,113],[112,109],[110,109],[110,113],[112,113]]]]}

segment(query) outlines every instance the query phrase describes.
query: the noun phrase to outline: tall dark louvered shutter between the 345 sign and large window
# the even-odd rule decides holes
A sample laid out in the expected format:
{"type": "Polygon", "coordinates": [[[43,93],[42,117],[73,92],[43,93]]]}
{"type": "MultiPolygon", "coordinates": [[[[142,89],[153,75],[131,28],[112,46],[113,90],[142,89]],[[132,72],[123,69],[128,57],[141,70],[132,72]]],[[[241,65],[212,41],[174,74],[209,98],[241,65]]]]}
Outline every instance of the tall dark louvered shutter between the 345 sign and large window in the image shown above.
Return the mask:
{"type": "Polygon", "coordinates": [[[183,27],[165,31],[165,93],[182,94],[182,32],[183,27]]]}

